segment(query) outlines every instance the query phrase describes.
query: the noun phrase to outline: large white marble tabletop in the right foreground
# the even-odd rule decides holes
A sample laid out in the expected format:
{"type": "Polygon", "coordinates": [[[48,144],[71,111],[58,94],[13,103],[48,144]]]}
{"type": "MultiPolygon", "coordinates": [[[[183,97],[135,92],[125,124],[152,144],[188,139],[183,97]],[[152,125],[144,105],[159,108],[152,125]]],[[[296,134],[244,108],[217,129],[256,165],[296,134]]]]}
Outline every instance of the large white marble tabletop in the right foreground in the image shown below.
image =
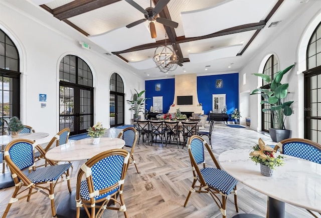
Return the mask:
{"type": "Polygon", "coordinates": [[[285,164],[267,177],[249,153],[250,149],[228,150],[219,155],[219,163],[237,180],[269,197],[321,212],[321,164],[284,155],[285,164]]]}

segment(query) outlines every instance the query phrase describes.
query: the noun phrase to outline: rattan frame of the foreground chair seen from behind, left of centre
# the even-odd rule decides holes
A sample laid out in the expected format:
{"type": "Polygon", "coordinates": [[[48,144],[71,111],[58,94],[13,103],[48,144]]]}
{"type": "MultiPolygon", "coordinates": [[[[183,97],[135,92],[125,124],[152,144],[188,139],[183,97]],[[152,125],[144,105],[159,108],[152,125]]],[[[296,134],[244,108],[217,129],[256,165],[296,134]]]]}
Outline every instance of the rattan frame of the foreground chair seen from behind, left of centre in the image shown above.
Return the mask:
{"type": "Polygon", "coordinates": [[[85,208],[85,211],[88,215],[88,217],[100,217],[104,211],[104,209],[113,209],[113,210],[118,210],[118,211],[123,211],[125,217],[127,218],[127,211],[126,211],[126,206],[124,203],[123,199],[123,182],[126,176],[127,168],[128,168],[128,161],[129,161],[130,155],[129,152],[124,150],[124,149],[112,149],[112,150],[107,150],[102,153],[99,153],[95,155],[94,157],[90,158],[87,160],[79,169],[78,175],[77,175],[77,184],[76,184],[76,217],[80,216],[80,207],[83,206],[85,208]],[[124,157],[124,162],[122,166],[122,172],[121,172],[121,178],[120,181],[116,182],[115,184],[110,185],[107,188],[100,189],[100,190],[95,190],[94,189],[94,184],[93,184],[93,175],[91,173],[91,167],[97,163],[99,160],[102,160],[106,157],[112,156],[112,155],[120,155],[124,157]],[[80,196],[80,185],[82,181],[82,177],[86,176],[86,182],[88,186],[88,191],[90,195],[90,200],[85,200],[81,198],[80,196]],[[108,193],[109,191],[118,188],[117,191],[114,193],[110,194],[110,197],[106,198],[101,198],[101,199],[94,199],[95,195],[101,195],[104,193],[108,193]],[[119,199],[118,201],[117,194],[119,194],[119,199]],[[108,202],[110,200],[113,200],[114,203],[118,203],[120,207],[111,207],[108,206],[108,202]],[[97,205],[97,203],[101,203],[100,205],[97,205]],[[88,207],[90,207],[91,211],[89,211],[88,207]],[[97,214],[96,214],[96,208],[98,208],[97,214]]]}

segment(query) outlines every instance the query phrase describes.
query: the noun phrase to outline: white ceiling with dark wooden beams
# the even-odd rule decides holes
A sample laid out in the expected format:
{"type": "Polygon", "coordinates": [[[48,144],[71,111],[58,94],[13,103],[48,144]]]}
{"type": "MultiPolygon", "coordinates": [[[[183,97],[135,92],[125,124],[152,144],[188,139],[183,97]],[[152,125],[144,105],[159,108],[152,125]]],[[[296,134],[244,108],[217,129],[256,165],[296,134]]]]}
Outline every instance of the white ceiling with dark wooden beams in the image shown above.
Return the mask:
{"type": "Polygon", "coordinates": [[[313,0],[133,0],[142,10],[155,8],[158,1],[167,3],[157,17],[178,23],[177,28],[172,28],[154,22],[157,36],[152,39],[149,21],[126,28],[144,19],[131,1],[29,0],[32,4],[29,7],[21,4],[21,0],[6,1],[64,33],[66,27],[76,30],[91,49],[107,54],[145,79],[239,72],[261,47],[268,46],[314,3],[313,0]],[[32,7],[46,15],[37,16],[32,7]],[[58,23],[52,23],[53,17],[58,23]],[[168,74],[160,72],[152,61],[156,47],[165,44],[173,45],[182,63],[168,74]]]}

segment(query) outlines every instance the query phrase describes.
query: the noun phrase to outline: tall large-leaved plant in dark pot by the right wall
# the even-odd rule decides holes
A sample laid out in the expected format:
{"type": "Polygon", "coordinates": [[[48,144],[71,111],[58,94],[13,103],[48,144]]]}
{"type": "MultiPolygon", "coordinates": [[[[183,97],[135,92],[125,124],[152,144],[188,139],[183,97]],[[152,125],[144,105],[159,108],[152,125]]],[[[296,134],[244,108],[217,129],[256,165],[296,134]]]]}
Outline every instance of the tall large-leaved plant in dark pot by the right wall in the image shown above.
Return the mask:
{"type": "Polygon", "coordinates": [[[264,98],[261,104],[266,103],[269,108],[263,108],[262,111],[271,111],[272,113],[272,124],[273,128],[269,128],[270,136],[274,142],[286,139],[290,135],[290,130],[286,129],[284,126],[284,121],[286,116],[292,114],[292,109],[290,108],[293,101],[286,101],[288,83],[281,83],[282,77],[286,74],[294,65],[291,65],[284,70],[277,72],[274,75],[273,80],[270,76],[266,74],[253,74],[255,76],[261,77],[264,81],[270,83],[266,89],[255,89],[252,91],[251,95],[261,94],[264,98]]]}

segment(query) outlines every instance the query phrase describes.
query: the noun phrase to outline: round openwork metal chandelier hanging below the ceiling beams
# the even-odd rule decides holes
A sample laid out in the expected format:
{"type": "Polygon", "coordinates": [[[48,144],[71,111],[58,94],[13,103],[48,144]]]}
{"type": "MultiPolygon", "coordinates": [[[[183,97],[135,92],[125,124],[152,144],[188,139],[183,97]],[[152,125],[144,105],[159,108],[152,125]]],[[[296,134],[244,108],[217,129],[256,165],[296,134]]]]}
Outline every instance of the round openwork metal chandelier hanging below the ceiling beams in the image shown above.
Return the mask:
{"type": "Polygon", "coordinates": [[[166,37],[167,35],[165,35],[165,46],[158,46],[152,58],[156,67],[163,73],[176,70],[179,60],[179,57],[175,54],[174,47],[172,45],[167,46],[166,37]]]}

